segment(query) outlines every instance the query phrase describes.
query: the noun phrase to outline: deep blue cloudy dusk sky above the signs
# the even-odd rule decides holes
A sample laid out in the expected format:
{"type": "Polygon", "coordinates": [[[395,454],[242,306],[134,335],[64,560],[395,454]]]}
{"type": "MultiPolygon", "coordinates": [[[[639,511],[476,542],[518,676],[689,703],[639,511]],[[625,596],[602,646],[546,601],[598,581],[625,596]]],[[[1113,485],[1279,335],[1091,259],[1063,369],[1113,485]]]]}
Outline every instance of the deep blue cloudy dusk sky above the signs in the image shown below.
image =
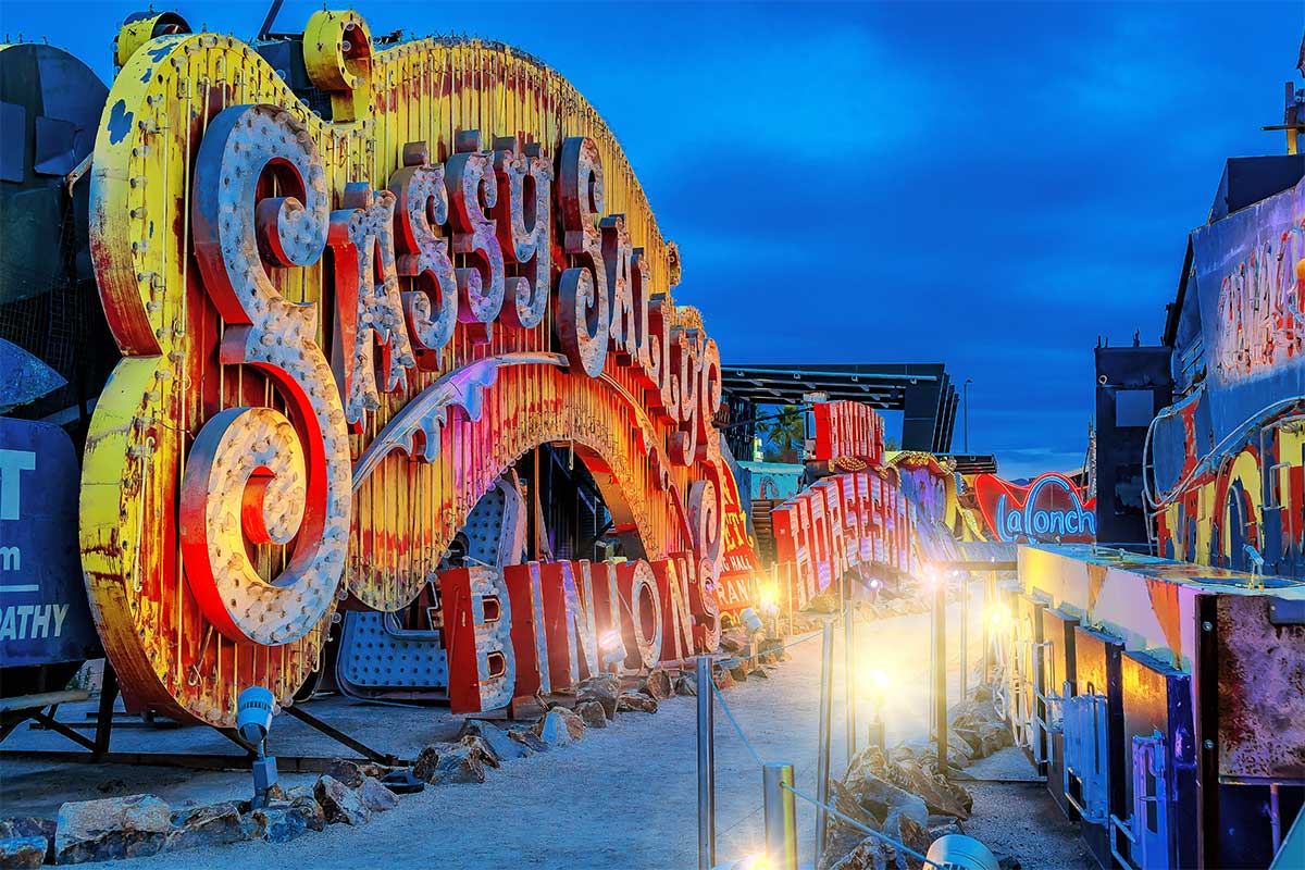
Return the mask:
{"type": "MultiPolygon", "coordinates": [[[[0,0],[0,29],[108,81],[145,5],[0,0]]],[[[248,39],[268,5],[157,8],[248,39]]],[[[1284,150],[1259,128],[1301,86],[1305,25],[1298,0],[352,5],[375,34],[499,39],[569,77],[726,364],[946,363],[974,378],[971,451],[1010,477],[1082,463],[1098,335],[1159,339],[1224,158],[1284,150]]]]}

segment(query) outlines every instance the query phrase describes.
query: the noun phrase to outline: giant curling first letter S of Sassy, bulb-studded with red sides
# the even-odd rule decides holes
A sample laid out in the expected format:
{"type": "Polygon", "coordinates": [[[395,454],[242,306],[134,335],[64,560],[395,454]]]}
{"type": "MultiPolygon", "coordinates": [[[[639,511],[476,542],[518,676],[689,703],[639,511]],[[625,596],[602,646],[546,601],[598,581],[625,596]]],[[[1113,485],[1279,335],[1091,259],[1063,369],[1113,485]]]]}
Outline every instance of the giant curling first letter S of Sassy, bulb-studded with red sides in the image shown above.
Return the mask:
{"type": "Polygon", "coordinates": [[[196,437],[181,483],[181,553],[205,616],[236,640],[304,637],[330,607],[352,513],[345,411],[317,346],[317,309],[287,301],[268,266],[308,266],[330,201],[312,136],[275,106],[234,106],[196,159],[194,252],[227,330],[223,365],[264,372],[286,403],[227,408],[196,437]],[[281,196],[258,200],[270,183],[281,196]],[[291,544],[265,580],[245,543],[291,544]]]}

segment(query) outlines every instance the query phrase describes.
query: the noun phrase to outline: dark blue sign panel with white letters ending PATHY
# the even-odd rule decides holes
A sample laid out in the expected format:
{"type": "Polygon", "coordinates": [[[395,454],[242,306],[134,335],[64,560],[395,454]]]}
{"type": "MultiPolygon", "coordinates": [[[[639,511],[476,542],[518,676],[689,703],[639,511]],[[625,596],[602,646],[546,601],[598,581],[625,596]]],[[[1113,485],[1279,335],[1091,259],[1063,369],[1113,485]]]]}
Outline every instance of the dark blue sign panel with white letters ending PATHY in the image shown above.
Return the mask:
{"type": "Polygon", "coordinates": [[[63,429],[0,417],[0,667],[103,655],[77,552],[80,476],[63,429]]]}

